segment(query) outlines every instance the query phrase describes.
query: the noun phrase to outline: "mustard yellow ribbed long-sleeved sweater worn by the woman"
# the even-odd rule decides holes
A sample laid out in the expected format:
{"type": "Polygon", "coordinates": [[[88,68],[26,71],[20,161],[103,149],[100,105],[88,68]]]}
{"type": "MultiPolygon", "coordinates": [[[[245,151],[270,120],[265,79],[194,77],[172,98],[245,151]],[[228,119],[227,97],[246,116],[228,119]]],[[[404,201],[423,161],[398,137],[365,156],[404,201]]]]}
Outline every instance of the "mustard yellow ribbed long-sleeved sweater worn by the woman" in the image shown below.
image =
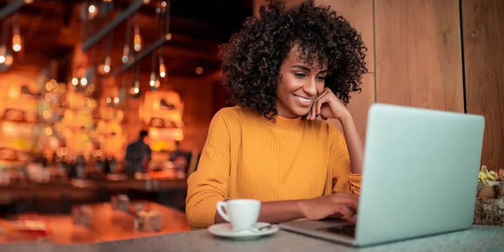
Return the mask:
{"type": "Polygon", "coordinates": [[[275,117],[241,107],[217,112],[196,172],[187,180],[186,215],[192,228],[214,224],[216,203],[311,199],[359,193],[343,135],[321,120],[275,117]]]}

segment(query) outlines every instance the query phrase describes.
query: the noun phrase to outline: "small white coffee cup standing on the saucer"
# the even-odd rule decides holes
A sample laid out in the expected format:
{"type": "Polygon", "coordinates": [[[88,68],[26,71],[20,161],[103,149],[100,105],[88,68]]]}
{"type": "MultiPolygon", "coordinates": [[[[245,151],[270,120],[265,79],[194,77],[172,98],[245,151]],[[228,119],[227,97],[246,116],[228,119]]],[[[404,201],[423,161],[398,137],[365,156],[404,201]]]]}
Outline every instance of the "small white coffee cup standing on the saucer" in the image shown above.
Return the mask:
{"type": "Polygon", "coordinates": [[[236,199],[217,202],[217,212],[231,223],[233,231],[254,227],[259,218],[261,202],[251,199],[236,199]]]}

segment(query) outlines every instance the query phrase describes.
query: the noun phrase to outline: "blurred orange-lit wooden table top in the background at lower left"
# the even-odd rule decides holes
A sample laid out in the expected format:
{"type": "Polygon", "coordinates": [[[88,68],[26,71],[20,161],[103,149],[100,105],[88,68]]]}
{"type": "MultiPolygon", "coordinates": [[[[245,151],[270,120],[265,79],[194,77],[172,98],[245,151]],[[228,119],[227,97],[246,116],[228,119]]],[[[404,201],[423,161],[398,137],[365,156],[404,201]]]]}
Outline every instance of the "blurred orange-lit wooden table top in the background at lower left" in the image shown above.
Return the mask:
{"type": "MultiPolygon", "coordinates": [[[[52,244],[76,244],[131,239],[190,230],[185,213],[150,201],[132,201],[130,211],[113,210],[110,203],[90,204],[93,209],[92,226],[75,225],[70,214],[43,214],[48,226],[47,235],[33,234],[21,230],[20,220],[0,219],[0,243],[48,241],[52,244]],[[162,229],[158,232],[137,231],[134,228],[137,204],[144,209],[161,213],[162,229]]],[[[2,249],[0,249],[2,250],[2,249]]]]}

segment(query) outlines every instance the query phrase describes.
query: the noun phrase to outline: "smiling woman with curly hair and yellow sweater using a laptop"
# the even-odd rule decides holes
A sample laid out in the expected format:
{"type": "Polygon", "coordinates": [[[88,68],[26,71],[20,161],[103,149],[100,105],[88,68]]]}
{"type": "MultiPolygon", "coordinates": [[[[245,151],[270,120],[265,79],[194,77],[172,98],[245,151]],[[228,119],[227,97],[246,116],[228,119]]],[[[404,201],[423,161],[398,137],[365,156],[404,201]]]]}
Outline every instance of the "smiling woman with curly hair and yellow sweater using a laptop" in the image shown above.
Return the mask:
{"type": "Polygon", "coordinates": [[[367,73],[359,33],[330,8],[271,1],[219,48],[237,106],[214,116],[187,180],[192,228],[223,222],[216,203],[239,198],[262,202],[260,222],[355,220],[363,144],[345,104],[367,73]]]}

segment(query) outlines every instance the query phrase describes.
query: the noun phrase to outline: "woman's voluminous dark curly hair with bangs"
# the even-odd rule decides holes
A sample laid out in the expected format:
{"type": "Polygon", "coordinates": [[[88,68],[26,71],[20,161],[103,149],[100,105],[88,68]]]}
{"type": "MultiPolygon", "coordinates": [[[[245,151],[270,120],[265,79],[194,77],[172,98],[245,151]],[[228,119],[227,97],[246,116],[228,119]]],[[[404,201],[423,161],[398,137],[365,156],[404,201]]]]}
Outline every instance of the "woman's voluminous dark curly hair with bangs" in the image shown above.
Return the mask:
{"type": "Polygon", "coordinates": [[[222,84],[232,103],[274,120],[280,67],[294,45],[300,45],[299,60],[309,66],[316,58],[319,69],[327,62],[325,87],[344,104],[350,92],[361,91],[362,75],[368,73],[367,48],[345,18],[330,7],[309,3],[286,9],[281,0],[271,0],[259,13],[259,18],[248,17],[240,32],[219,47],[222,84]]]}

